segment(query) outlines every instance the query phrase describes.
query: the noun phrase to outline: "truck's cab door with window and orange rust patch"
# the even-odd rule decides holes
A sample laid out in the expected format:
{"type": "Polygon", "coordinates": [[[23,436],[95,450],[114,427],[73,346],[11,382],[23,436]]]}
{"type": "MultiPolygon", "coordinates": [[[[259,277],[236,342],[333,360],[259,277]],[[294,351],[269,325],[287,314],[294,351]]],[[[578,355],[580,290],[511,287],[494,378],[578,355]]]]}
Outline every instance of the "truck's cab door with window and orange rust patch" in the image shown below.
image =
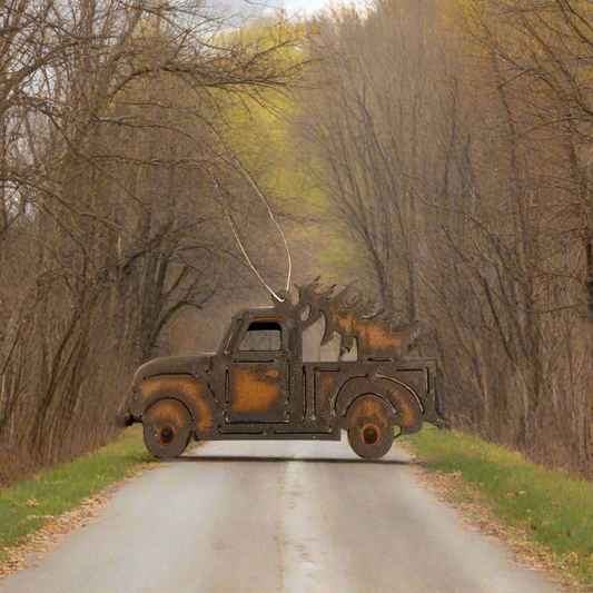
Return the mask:
{"type": "Polygon", "coordinates": [[[225,385],[226,418],[288,423],[288,356],[280,319],[253,319],[231,345],[225,385]]]}

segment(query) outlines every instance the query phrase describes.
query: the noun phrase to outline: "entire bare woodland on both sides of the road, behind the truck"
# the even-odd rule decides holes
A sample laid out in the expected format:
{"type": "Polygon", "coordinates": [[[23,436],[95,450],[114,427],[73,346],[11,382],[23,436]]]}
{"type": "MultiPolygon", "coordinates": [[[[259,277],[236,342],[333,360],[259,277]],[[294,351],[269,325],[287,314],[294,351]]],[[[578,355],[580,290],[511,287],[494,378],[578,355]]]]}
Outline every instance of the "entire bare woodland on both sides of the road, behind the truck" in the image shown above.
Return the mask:
{"type": "Polygon", "coordinates": [[[294,280],[428,322],[449,426],[593,478],[587,3],[0,10],[0,484],[286,281],[270,213],[294,280]]]}

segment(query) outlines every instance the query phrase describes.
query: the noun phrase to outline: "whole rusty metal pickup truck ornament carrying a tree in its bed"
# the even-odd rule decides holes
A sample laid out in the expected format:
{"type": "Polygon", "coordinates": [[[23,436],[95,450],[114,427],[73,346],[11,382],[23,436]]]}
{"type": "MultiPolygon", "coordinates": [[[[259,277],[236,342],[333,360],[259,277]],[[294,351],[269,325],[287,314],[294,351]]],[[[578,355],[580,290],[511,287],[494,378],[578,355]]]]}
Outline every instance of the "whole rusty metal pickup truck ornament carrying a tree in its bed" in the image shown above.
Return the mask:
{"type": "Polygon", "coordinates": [[[283,291],[269,308],[236,314],[216,354],[174,356],[136,373],[123,424],[141,422],[145,443],[162,458],[184,453],[190,436],[220,439],[339,441],[379,458],[395,426],[416,433],[438,425],[435,362],[409,359],[422,324],[392,330],[385,310],[366,312],[348,290],[318,281],[283,291]],[[356,360],[304,362],[304,332],[325,318],[322,344],[342,336],[356,360]]]}

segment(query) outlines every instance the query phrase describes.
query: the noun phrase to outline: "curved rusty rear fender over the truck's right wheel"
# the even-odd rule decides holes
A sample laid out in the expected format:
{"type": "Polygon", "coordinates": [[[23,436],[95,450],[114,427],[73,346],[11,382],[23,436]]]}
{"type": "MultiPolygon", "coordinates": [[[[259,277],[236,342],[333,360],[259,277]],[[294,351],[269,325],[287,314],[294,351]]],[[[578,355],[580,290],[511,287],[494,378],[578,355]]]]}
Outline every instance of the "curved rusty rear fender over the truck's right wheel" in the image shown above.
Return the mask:
{"type": "Polygon", "coordinates": [[[335,401],[335,412],[339,425],[346,427],[346,415],[352,403],[360,395],[372,394],[385,401],[392,409],[392,421],[399,426],[402,434],[417,433],[423,424],[423,411],[414,391],[386,376],[353,377],[339,389],[335,401]]]}

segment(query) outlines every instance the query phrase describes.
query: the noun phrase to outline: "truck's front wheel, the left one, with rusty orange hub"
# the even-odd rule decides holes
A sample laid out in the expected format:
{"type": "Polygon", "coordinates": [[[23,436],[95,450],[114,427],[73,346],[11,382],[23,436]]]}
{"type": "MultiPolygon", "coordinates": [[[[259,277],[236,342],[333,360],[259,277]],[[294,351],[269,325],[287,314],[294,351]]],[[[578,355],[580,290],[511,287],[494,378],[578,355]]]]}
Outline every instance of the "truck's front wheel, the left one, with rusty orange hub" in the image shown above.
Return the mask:
{"type": "Polygon", "coordinates": [[[146,448],[160,459],[184,453],[191,435],[191,416],[177,399],[159,399],[142,416],[146,448]]]}

